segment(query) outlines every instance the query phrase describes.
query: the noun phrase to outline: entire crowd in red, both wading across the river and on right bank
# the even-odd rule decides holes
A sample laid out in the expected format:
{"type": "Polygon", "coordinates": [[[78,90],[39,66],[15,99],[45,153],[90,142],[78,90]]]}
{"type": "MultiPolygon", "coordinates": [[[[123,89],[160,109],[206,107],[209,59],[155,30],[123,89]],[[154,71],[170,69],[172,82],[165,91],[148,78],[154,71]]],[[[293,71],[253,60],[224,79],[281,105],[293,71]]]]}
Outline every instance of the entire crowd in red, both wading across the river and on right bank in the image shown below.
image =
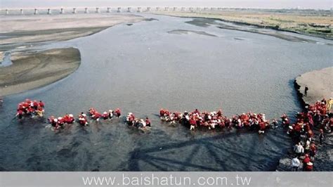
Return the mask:
{"type": "MultiPolygon", "coordinates": [[[[282,127],[287,129],[287,134],[289,134],[295,142],[295,156],[292,159],[292,169],[294,171],[297,171],[301,167],[301,163],[303,163],[303,171],[313,171],[315,155],[318,151],[318,145],[315,143],[318,142],[322,145],[325,132],[330,134],[333,130],[333,114],[330,112],[332,104],[332,98],[328,101],[323,98],[322,101],[317,101],[313,105],[306,105],[303,112],[297,112],[295,115],[295,122],[291,122],[286,114],[280,117],[282,127]],[[315,129],[319,130],[317,136],[315,136],[314,133],[315,129]],[[299,159],[301,159],[302,162],[300,162],[299,159]]],[[[42,101],[31,101],[27,98],[25,101],[18,104],[15,117],[18,117],[18,119],[22,119],[22,117],[43,117],[44,107],[42,101]]],[[[100,113],[95,108],[89,108],[88,115],[91,117],[91,120],[98,122],[100,119],[112,120],[114,116],[119,118],[122,115],[122,111],[117,108],[100,113]]],[[[270,123],[263,113],[256,114],[247,112],[228,118],[223,115],[221,109],[217,112],[200,112],[197,109],[192,112],[170,112],[162,108],[159,110],[159,117],[162,121],[169,122],[170,124],[183,124],[190,130],[197,128],[236,128],[257,130],[259,134],[263,134],[266,129],[275,129],[279,124],[278,120],[275,119],[270,123]]],[[[72,114],[66,114],[63,117],[48,117],[48,122],[54,129],[60,129],[64,127],[65,124],[73,124],[75,121],[83,126],[89,124],[87,115],[84,112],[79,114],[77,120],[72,114]]],[[[126,123],[130,127],[136,127],[138,129],[149,129],[151,126],[148,117],[146,117],[145,120],[139,119],[136,118],[132,112],[129,112],[126,116],[126,123]]]]}

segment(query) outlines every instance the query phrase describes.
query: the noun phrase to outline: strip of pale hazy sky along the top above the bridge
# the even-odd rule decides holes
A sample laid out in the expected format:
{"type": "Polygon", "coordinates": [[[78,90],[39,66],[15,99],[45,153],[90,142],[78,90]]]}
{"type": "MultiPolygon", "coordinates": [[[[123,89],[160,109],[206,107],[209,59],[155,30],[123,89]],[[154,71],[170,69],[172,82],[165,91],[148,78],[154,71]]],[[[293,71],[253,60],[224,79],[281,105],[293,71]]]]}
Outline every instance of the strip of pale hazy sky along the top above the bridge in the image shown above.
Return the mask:
{"type": "Polygon", "coordinates": [[[333,0],[0,0],[1,8],[84,6],[219,6],[235,8],[332,8],[333,0]]]}

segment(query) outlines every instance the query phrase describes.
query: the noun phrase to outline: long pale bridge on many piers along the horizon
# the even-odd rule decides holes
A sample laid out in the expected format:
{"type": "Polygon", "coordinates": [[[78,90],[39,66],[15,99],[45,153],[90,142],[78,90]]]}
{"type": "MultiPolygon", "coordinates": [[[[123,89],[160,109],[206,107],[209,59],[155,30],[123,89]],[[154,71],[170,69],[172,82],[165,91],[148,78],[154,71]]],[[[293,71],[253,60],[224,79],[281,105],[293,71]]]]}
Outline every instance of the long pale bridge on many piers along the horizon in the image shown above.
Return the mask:
{"type": "Polygon", "coordinates": [[[4,15],[76,14],[76,13],[122,13],[122,12],[202,12],[223,11],[218,7],[73,7],[73,8],[2,8],[4,15]]]}

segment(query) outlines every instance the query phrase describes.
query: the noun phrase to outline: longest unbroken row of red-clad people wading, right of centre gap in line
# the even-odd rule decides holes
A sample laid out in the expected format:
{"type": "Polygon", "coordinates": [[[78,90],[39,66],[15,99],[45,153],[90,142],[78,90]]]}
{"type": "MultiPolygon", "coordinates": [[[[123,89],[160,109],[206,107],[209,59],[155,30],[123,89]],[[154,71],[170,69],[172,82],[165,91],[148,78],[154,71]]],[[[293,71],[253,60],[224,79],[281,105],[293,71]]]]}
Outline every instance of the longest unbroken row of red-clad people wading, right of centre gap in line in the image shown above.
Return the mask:
{"type": "Polygon", "coordinates": [[[176,122],[185,125],[190,130],[196,128],[206,128],[206,129],[223,129],[232,128],[237,129],[252,129],[258,130],[259,134],[263,134],[269,127],[277,127],[277,120],[273,120],[270,124],[269,120],[266,120],[265,114],[263,113],[253,113],[247,112],[242,113],[242,115],[234,115],[231,118],[223,115],[222,110],[217,112],[200,112],[195,109],[193,112],[170,112],[166,109],[159,110],[159,117],[162,121],[170,122],[175,124],[176,122]]]}

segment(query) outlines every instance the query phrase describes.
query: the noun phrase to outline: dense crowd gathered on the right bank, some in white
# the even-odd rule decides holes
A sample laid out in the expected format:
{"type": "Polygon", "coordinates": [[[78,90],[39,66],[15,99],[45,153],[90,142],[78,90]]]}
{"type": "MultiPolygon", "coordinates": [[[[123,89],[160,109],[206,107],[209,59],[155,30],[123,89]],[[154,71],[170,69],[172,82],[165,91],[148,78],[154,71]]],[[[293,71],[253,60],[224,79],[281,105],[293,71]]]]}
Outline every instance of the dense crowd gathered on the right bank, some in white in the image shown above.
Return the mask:
{"type": "Polygon", "coordinates": [[[303,171],[313,171],[315,155],[318,151],[318,144],[324,143],[325,132],[330,134],[333,129],[333,115],[330,112],[332,98],[326,101],[317,101],[313,105],[306,105],[303,112],[298,112],[296,122],[291,124],[287,115],[282,116],[282,123],[288,127],[287,134],[292,136],[296,143],[294,146],[295,157],[292,159],[292,167],[297,171],[301,167],[299,159],[303,159],[303,171]],[[319,129],[315,136],[314,130],[319,129]],[[317,143],[317,145],[315,144],[317,143]]]}

